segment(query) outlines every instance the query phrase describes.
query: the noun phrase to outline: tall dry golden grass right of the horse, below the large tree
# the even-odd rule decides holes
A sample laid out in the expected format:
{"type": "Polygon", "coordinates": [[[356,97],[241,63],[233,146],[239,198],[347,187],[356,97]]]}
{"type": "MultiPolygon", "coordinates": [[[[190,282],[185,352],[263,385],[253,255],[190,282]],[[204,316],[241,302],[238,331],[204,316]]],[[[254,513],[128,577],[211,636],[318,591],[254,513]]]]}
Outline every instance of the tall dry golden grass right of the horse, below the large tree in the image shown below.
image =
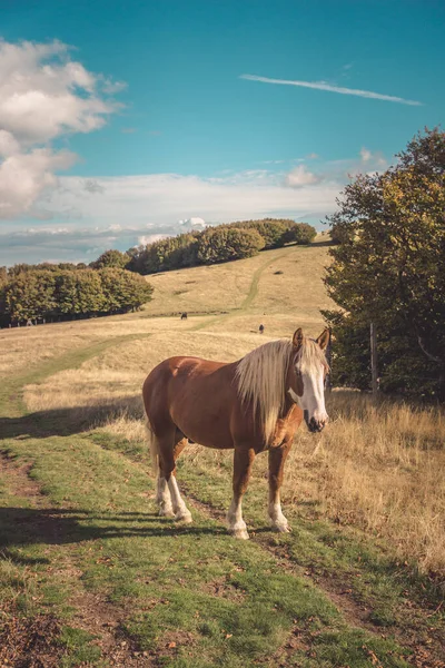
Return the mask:
{"type": "Polygon", "coordinates": [[[376,406],[333,392],[332,422],[317,439],[301,430],[285,499],[320,503],[343,524],[387,539],[423,571],[445,572],[445,416],[406,404],[376,406]]]}

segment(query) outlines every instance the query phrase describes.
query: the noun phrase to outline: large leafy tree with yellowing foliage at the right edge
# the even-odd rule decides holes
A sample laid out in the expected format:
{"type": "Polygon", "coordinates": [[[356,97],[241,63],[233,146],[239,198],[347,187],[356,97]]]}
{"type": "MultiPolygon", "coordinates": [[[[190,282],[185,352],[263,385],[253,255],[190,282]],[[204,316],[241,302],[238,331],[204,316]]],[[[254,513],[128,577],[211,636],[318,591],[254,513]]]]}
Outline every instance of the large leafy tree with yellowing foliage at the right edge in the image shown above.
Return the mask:
{"type": "Polygon", "coordinates": [[[384,390],[445,400],[445,132],[425,130],[398,158],[346,186],[326,284],[342,325],[377,325],[384,390]]]}

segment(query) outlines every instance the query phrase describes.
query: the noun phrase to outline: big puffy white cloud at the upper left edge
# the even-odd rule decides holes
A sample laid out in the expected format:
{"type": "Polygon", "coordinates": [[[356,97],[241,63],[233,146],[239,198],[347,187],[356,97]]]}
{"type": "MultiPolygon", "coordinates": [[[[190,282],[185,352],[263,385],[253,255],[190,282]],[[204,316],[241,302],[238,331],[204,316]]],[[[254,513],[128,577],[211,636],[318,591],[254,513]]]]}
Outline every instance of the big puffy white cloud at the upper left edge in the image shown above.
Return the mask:
{"type": "Polygon", "coordinates": [[[59,41],[0,41],[0,218],[47,215],[37,199],[76,158],[49,143],[101,128],[118,109],[106,95],[121,88],[71,60],[59,41]]]}

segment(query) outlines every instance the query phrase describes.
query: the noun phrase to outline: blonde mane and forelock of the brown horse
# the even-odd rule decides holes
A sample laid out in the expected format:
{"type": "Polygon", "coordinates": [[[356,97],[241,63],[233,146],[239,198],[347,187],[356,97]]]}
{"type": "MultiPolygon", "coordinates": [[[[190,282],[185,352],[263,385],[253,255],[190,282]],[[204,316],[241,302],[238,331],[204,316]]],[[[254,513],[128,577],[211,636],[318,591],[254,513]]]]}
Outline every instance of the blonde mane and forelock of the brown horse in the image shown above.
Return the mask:
{"type": "MultiPolygon", "coordinates": [[[[241,403],[251,403],[254,419],[259,412],[266,443],[275,430],[280,412],[285,406],[286,376],[289,367],[293,342],[279,338],[265,343],[239,361],[235,377],[241,403]]],[[[304,338],[296,362],[304,373],[327,365],[322,348],[312,338],[304,338]]]]}

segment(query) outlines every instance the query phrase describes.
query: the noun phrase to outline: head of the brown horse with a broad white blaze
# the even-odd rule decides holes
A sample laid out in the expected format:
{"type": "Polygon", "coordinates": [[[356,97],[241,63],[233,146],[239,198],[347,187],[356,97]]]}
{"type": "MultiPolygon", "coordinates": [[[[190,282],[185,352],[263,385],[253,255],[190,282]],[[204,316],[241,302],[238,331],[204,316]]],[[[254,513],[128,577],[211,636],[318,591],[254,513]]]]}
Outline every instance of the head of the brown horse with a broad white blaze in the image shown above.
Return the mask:
{"type": "Polygon", "coordinates": [[[329,343],[329,330],[316,341],[305,338],[301,328],[294,334],[291,365],[289,369],[289,394],[301,409],[312,432],[320,432],[328,421],[325,407],[325,377],[328,364],[324,351],[329,343]]]}

